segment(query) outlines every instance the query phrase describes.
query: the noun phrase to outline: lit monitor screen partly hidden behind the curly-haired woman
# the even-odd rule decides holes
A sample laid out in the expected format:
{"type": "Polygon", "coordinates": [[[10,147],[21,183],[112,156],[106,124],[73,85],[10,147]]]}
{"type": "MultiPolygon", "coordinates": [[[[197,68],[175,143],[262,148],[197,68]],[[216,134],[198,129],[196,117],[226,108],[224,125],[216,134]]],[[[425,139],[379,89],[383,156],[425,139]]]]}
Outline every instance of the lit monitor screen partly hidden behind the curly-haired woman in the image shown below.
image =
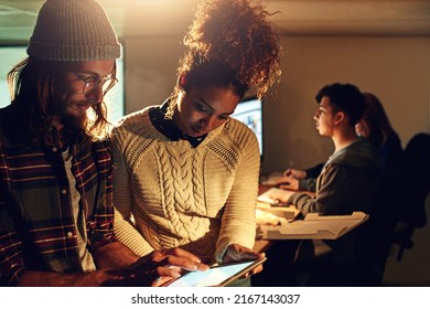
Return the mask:
{"type": "Polygon", "coordinates": [[[262,157],[262,102],[256,97],[247,98],[240,102],[233,118],[247,125],[257,136],[260,156],[262,157]]]}

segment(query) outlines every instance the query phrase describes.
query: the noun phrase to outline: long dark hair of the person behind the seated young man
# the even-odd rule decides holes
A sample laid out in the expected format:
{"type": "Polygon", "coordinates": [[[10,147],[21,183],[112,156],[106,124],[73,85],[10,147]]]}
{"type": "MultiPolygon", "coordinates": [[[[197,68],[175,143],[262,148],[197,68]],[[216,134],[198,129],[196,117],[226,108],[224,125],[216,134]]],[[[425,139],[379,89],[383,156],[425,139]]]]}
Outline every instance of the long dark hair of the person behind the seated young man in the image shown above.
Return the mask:
{"type": "Polygon", "coordinates": [[[383,146],[388,137],[396,132],[379,98],[370,93],[363,93],[363,95],[366,104],[363,120],[369,130],[368,139],[376,146],[383,146]]]}

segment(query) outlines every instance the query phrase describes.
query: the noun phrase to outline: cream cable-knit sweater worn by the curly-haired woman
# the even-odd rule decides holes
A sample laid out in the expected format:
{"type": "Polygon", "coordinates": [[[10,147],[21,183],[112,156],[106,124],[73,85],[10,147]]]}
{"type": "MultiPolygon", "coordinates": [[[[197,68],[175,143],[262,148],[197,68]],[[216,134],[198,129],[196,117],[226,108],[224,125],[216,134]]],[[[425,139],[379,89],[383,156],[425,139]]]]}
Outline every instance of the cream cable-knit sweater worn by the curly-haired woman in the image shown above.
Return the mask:
{"type": "Polygon", "coordinates": [[[229,118],[193,148],[151,124],[148,108],[112,130],[115,232],[136,254],[181,246],[221,262],[252,248],[260,157],[254,132],[229,118]]]}

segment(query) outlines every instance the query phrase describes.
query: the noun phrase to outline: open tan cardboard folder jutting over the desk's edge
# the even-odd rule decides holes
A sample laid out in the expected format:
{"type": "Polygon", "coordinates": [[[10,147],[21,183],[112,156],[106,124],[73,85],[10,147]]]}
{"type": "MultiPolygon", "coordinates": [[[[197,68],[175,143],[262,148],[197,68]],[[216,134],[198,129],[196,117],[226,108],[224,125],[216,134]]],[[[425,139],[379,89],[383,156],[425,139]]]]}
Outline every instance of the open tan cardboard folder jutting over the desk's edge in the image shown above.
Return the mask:
{"type": "Polygon", "coordinates": [[[368,214],[354,212],[351,215],[319,215],[309,213],[303,220],[281,225],[259,225],[260,239],[337,239],[366,222],[368,214]]]}

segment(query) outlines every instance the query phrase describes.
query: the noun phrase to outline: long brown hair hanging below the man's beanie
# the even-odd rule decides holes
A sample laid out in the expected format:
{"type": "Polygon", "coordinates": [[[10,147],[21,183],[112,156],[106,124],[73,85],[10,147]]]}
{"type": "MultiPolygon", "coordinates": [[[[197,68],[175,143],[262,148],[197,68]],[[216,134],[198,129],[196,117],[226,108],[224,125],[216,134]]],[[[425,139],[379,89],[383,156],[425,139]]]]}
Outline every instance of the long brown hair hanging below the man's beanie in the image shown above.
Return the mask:
{"type": "MultiPolygon", "coordinates": [[[[18,63],[8,74],[12,104],[19,105],[29,120],[31,132],[41,137],[45,145],[55,145],[52,121],[55,103],[62,100],[60,90],[64,76],[73,68],[72,62],[46,61],[28,57],[18,63]]],[[[112,76],[116,75],[116,67],[112,76]]],[[[92,117],[86,117],[82,127],[84,142],[105,138],[108,134],[106,104],[92,106],[92,117]]]]}

